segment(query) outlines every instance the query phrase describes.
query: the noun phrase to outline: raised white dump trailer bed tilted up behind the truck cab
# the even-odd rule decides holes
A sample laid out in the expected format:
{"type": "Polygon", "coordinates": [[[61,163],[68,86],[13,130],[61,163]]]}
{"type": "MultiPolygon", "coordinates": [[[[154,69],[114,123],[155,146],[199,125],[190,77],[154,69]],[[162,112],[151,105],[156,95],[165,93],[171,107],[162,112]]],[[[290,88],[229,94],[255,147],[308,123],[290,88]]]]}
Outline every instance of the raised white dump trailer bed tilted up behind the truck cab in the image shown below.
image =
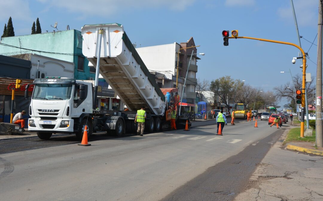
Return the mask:
{"type": "Polygon", "coordinates": [[[99,73],[127,105],[130,111],[141,106],[151,114],[164,115],[165,96],[157,86],[121,24],[84,25],[83,54],[96,67],[99,37],[99,73]],[[99,33],[102,30],[103,33],[99,33]]]}

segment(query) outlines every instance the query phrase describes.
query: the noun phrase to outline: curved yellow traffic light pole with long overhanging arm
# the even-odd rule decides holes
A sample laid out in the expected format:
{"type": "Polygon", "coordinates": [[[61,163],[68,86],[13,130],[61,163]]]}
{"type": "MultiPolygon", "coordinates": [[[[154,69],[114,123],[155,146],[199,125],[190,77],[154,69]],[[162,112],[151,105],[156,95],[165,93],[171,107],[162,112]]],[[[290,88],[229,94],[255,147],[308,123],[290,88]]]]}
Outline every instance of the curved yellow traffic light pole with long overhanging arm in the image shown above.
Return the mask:
{"type": "MultiPolygon", "coordinates": [[[[235,30],[236,31],[236,30],[235,30]]],[[[304,50],[299,47],[298,45],[291,43],[291,42],[284,42],[284,41],[274,41],[274,40],[268,40],[268,39],[262,39],[262,38],[253,38],[253,37],[245,37],[245,36],[237,36],[237,37],[229,37],[229,38],[245,38],[245,39],[252,39],[252,40],[258,40],[258,41],[266,41],[266,42],[274,42],[274,43],[280,43],[285,45],[292,45],[294,47],[297,47],[299,50],[301,50],[303,54],[303,81],[302,81],[302,112],[301,112],[301,138],[304,137],[304,108],[305,108],[305,83],[306,83],[306,57],[304,50]]]]}

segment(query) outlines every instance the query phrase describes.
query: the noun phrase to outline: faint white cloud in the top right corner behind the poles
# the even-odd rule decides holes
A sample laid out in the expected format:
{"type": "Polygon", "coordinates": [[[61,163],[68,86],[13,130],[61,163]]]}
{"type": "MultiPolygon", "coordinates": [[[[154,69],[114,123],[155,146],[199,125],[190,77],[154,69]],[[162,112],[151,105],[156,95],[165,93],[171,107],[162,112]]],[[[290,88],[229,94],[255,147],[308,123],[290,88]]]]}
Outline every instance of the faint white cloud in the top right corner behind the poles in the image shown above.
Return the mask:
{"type": "MultiPolygon", "coordinates": [[[[318,1],[294,0],[293,4],[298,26],[317,25],[318,1]]],[[[287,7],[278,8],[277,14],[287,22],[294,23],[293,11],[290,4],[287,7]]]]}

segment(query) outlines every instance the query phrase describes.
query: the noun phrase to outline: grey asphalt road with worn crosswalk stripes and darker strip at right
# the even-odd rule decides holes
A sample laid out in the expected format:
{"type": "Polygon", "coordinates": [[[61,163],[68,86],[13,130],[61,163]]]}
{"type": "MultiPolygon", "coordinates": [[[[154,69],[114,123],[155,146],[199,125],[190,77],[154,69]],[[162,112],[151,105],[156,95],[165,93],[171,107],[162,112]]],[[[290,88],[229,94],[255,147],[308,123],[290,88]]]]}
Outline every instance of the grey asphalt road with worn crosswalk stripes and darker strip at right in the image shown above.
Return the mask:
{"type": "Polygon", "coordinates": [[[3,153],[1,199],[232,200],[286,124],[241,121],[216,136],[212,121],[205,123],[211,125],[92,139],[89,147],[71,140],[3,153]]]}

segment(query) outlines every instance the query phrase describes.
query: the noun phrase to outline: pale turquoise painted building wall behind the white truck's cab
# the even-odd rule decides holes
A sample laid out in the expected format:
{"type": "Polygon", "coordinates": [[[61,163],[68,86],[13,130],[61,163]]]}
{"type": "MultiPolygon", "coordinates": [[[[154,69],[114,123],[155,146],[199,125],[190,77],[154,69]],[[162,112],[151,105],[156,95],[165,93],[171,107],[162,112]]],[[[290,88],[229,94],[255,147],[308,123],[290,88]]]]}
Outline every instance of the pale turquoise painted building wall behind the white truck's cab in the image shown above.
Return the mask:
{"type": "Polygon", "coordinates": [[[73,29],[67,31],[5,37],[2,38],[1,43],[26,48],[28,50],[0,45],[0,54],[20,54],[21,51],[21,53],[34,53],[46,57],[69,61],[75,64],[74,78],[88,79],[89,77],[95,77],[95,73],[89,72],[89,60],[86,59],[82,54],[82,35],[78,30],[73,29]],[[44,53],[30,50],[64,53],[69,55],[44,53]],[[79,56],[84,58],[84,71],[78,70],[79,56]]]}

